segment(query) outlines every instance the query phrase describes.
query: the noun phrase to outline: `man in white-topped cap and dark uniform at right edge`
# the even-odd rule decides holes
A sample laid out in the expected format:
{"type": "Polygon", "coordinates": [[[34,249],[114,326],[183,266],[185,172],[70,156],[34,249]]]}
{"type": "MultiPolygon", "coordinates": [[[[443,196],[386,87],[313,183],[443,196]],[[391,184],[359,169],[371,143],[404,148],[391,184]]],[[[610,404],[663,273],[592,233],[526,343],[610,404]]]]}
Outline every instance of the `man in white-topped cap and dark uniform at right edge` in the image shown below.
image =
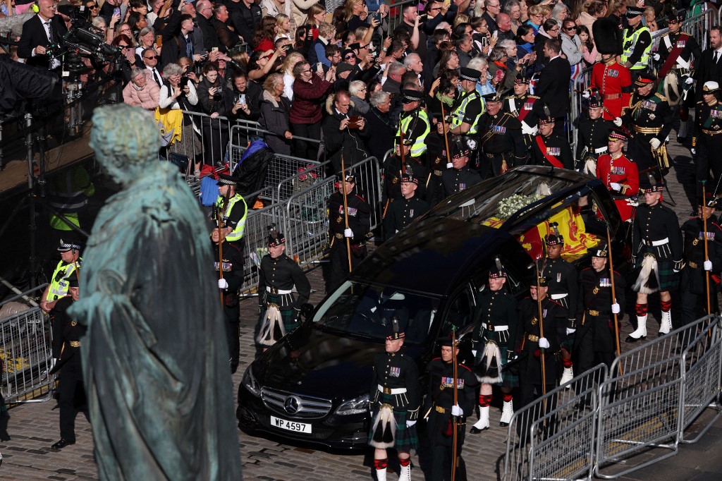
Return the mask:
{"type": "Polygon", "coordinates": [[[719,84],[705,82],[702,99],[695,108],[697,136],[692,137],[692,155],[697,164],[697,197],[702,196],[702,181],[707,181],[707,188],[713,194],[719,194],[718,183],[722,178],[722,103],[719,84]]]}

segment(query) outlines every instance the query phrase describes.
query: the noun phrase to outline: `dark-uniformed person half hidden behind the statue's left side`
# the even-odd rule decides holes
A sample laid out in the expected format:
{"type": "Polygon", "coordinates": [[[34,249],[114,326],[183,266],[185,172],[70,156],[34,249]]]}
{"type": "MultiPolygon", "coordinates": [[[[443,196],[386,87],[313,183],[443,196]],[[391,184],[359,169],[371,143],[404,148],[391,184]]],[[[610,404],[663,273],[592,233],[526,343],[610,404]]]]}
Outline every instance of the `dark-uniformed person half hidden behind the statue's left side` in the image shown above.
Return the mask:
{"type": "Polygon", "coordinates": [[[58,299],[55,307],[56,319],[53,323],[53,358],[58,358],[51,374],[60,371],[60,441],[51,449],[63,449],[75,444],[75,416],[85,411],[87,404],[83,388],[83,373],[80,358],[80,338],[85,326],[78,324],[67,314],[67,310],[79,299],[80,290],[75,274],[68,279],[69,294],[58,299]]]}

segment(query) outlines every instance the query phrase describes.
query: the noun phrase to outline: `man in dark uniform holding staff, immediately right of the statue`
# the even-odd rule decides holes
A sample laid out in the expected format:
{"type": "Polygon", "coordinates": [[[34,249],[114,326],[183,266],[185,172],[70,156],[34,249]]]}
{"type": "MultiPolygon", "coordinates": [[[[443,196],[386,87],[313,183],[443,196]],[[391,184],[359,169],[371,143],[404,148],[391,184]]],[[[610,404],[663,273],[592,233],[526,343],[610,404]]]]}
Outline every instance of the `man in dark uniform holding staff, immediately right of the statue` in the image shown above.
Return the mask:
{"type": "Polygon", "coordinates": [[[230,373],[238,370],[240,356],[238,311],[238,290],[243,285],[243,251],[238,243],[227,242],[225,229],[218,230],[212,222],[211,242],[213,247],[213,268],[218,276],[218,288],[223,291],[223,317],[225,318],[230,373]],[[220,254],[223,254],[222,259],[220,254]]]}

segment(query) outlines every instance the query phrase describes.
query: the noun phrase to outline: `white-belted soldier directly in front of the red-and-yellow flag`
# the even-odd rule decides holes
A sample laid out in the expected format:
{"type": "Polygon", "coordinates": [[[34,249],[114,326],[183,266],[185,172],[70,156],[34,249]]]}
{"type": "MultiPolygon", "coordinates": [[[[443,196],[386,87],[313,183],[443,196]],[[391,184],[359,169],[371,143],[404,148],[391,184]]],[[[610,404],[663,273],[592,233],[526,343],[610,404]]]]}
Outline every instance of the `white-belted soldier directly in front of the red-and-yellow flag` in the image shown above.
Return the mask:
{"type": "Polygon", "coordinates": [[[562,259],[564,236],[560,234],[556,222],[549,224],[549,228],[552,233],[544,236],[544,243],[547,245],[547,259],[544,259],[544,264],[542,264],[541,277],[544,277],[544,282],[547,284],[545,291],[549,294],[549,298],[560,304],[565,318],[555,326],[555,331],[545,331],[545,334],[547,337],[555,336],[557,338],[564,368],[560,384],[564,384],[574,377],[571,354],[572,339],[569,336],[574,334],[577,325],[579,289],[577,269],[562,259]]]}

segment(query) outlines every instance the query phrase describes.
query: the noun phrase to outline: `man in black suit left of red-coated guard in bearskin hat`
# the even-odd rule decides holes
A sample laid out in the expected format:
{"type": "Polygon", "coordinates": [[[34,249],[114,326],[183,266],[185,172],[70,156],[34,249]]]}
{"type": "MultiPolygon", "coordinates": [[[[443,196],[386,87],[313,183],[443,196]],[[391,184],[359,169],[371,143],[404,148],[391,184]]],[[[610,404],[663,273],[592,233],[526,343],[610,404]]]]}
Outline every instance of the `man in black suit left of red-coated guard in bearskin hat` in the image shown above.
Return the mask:
{"type": "Polygon", "coordinates": [[[554,117],[554,132],[564,133],[564,121],[569,110],[569,81],[571,66],[566,58],[562,58],[562,41],[549,38],[544,42],[544,56],[549,64],[539,74],[536,95],[549,105],[549,114],[554,117]]]}

